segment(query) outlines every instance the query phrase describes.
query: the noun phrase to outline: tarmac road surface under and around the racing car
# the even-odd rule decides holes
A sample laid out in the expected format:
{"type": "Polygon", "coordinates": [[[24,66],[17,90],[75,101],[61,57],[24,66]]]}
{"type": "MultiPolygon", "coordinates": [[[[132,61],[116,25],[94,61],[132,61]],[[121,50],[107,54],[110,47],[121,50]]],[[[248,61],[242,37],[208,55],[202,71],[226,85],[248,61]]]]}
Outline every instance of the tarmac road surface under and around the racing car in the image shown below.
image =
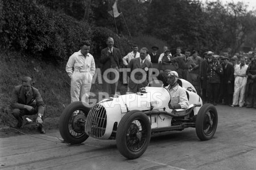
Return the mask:
{"type": "Polygon", "coordinates": [[[128,160],[115,141],[88,138],[71,146],[56,138],[59,131],[18,135],[0,139],[0,169],[256,169],[256,109],[216,107],[210,141],[199,141],[193,128],[171,131],[152,137],[141,158],[128,160]]]}

